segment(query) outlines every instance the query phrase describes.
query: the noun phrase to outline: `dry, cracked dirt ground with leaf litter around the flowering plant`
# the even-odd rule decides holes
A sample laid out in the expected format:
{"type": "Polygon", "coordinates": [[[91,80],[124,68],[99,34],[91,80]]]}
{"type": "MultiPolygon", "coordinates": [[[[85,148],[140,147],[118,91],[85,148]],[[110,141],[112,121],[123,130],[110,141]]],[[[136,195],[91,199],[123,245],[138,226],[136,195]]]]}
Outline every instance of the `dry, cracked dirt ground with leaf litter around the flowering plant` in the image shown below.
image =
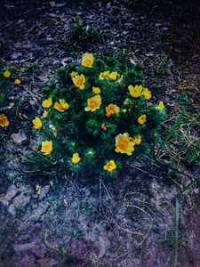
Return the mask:
{"type": "Polygon", "coordinates": [[[153,101],[162,99],[174,122],[180,85],[200,85],[197,2],[3,1],[0,69],[20,65],[22,84],[5,107],[11,126],[0,129],[0,266],[200,266],[198,187],[176,202],[199,167],[183,166],[178,179],[138,163],[105,181],[31,174],[21,156],[42,113],[41,88],[84,52],[143,62],[153,101]],[[77,17],[98,35],[73,38],[77,17]]]}

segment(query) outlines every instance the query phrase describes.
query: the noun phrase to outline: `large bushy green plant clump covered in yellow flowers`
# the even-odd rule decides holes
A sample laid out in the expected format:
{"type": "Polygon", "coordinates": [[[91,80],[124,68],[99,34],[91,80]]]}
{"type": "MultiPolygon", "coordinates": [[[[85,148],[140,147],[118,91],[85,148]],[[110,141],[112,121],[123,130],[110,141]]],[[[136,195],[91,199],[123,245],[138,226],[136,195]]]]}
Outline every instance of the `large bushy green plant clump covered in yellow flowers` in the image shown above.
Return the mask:
{"type": "Polygon", "coordinates": [[[150,100],[140,64],[129,69],[84,53],[58,77],[43,89],[43,115],[32,120],[40,157],[71,172],[117,174],[127,161],[153,154],[164,102],[150,100]]]}

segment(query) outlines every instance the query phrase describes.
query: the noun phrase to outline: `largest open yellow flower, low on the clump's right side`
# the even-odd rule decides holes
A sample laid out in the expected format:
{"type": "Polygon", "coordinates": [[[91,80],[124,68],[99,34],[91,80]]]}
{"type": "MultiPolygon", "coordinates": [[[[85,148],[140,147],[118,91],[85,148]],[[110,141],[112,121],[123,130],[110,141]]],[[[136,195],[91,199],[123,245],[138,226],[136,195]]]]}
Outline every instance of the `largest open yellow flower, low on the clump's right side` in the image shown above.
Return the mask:
{"type": "Polygon", "coordinates": [[[132,142],[132,137],[128,133],[118,134],[116,136],[116,150],[117,153],[132,155],[134,151],[134,142],[132,142]]]}

